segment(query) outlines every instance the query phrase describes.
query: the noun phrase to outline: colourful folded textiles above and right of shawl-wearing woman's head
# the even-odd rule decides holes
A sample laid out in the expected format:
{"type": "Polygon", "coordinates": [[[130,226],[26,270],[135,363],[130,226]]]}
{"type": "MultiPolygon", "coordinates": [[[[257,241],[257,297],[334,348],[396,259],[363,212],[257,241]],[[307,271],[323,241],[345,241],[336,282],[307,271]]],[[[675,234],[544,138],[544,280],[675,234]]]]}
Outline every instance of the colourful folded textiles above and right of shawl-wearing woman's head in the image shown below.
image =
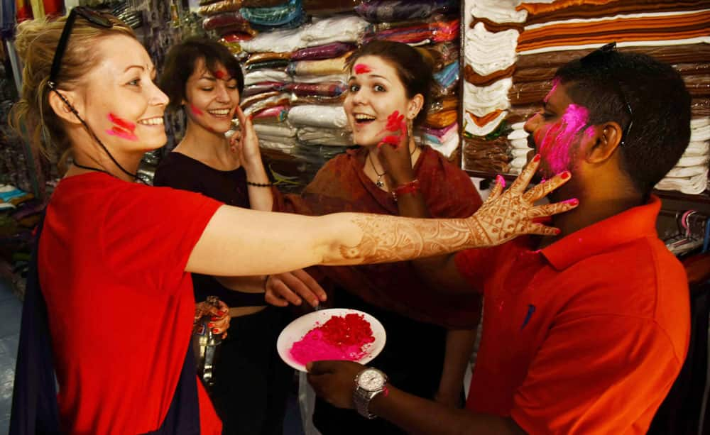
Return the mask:
{"type": "Polygon", "coordinates": [[[355,11],[371,23],[364,42],[392,40],[427,50],[435,84],[427,119],[417,141],[451,158],[459,147],[459,2],[452,0],[370,0],[355,11]]]}

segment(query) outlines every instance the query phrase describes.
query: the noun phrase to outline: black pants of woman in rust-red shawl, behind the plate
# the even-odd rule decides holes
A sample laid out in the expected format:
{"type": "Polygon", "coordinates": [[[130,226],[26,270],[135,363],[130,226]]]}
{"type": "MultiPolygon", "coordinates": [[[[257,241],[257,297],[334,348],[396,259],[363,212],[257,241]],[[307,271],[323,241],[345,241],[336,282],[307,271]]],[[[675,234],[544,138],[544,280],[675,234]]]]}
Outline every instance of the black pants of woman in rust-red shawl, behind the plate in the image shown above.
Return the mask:
{"type": "MultiPolygon", "coordinates": [[[[334,304],[371,314],[385,327],[385,348],[368,366],[382,370],[400,390],[434,397],[444,365],[446,329],[378,309],[342,289],[334,304]]],[[[354,409],[338,409],[320,398],[315,402],[313,424],[323,435],[405,434],[383,419],[366,419],[354,409]]]]}

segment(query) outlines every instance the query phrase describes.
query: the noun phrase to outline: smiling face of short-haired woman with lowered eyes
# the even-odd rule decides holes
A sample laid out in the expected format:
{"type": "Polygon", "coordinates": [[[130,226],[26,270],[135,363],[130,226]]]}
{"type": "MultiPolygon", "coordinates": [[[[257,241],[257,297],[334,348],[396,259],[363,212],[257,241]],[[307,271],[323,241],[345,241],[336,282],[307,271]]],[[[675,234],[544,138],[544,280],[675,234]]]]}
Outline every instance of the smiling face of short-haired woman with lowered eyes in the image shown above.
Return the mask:
{"type": "Polygon", "coordinates": [[[204,65],[204,59],[198,59],[185,84],[182,102],[188,128],[192,125],[212,133],[225,133],[231,128],[231,119],[239,105],[239,87],[224,65],[218,63],[213,73],[204,65]]]}

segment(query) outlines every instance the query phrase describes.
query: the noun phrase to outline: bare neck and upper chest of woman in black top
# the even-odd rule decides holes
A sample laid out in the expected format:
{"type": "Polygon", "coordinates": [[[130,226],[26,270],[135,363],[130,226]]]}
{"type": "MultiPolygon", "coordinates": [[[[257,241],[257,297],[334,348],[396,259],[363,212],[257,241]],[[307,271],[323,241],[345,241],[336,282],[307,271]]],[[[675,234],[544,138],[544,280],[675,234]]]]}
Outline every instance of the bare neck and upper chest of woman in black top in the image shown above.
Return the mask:
{"type": "Polygon", "coordinates": [[[229,140],[223,133],[207,131],[191,122],[187,123],[185,137],[175,151],[217,170],[235,170],[241,166],[239,154],[229,149],[229,140]]]}

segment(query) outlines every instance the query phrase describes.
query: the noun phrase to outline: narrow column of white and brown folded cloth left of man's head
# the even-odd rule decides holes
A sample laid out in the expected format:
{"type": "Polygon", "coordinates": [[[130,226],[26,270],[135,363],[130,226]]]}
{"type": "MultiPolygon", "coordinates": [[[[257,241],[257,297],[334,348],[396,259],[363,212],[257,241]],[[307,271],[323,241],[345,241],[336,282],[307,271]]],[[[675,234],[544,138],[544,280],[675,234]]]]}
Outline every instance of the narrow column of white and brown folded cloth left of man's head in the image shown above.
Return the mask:
{"type": "MultiPolygon", "coordinates": [[[[464,168],[518,172],[506,142],[506,123],[517,59],[518,36],[527,12],[520,1],[467,0],[464,53],[464,168]]],[[[520,152],[522,153],[522,152],[520,152]]]]}

